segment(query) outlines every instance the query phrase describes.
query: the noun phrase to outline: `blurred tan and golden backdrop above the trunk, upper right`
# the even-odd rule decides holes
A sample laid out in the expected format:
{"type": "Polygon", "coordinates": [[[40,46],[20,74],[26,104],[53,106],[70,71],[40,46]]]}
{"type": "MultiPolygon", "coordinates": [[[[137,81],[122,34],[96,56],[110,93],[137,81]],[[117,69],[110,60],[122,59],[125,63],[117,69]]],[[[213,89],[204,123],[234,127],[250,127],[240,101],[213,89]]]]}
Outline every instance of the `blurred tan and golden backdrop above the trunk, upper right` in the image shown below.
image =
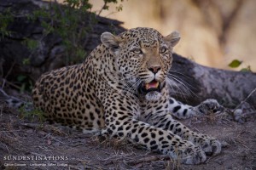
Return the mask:
{"type": "MultiPolygon", "coordinates": [[[[61,1],[60,1],[61,2],[61,1]]],[[[93,10],[101,0],[90,0],[93,10]]],[[[180,31],[182,39],[175,51],[197,63],[240,71],[256,71],[256,1],[255,0],[125,0],[123,10],[113,13],[109,5],[102,16],[124,21],[127,29],[148,26],[163,35],[180,31]],[[234,59],[243,61],[236,69],[234,59]]]]}

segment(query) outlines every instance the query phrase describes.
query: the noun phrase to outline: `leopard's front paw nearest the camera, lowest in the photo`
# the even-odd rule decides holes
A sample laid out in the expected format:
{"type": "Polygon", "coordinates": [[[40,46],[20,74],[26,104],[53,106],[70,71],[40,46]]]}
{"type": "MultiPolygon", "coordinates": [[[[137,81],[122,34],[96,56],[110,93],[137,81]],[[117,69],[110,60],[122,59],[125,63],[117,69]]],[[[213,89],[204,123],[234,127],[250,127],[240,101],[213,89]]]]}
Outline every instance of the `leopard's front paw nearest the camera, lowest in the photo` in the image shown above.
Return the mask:
{"type": "Polygon", "coordinates": [[[188,144],[185,147],[179,148],[178,159],[183,164],[199,164],[207,160],[207,156],[200,146],[195,146],[191,142],[187,141],[188,144]]]}

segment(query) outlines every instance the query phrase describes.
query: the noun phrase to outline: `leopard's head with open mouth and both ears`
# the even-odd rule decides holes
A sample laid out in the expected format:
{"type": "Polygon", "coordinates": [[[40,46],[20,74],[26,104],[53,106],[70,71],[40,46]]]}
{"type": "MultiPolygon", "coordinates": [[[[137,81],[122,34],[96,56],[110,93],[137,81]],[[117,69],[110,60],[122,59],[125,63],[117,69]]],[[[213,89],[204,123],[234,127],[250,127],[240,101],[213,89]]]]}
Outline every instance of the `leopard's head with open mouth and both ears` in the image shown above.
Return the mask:
{"type": "Polygon", "coordinates": [[[163,37],[152,28],[135,28],[114,36],[102,34],[102,43],[115,58],[115,68],[131,88],[148,100],[160,97],[172,66],[172,48],[180,39],[173,31],[163,37]]]}

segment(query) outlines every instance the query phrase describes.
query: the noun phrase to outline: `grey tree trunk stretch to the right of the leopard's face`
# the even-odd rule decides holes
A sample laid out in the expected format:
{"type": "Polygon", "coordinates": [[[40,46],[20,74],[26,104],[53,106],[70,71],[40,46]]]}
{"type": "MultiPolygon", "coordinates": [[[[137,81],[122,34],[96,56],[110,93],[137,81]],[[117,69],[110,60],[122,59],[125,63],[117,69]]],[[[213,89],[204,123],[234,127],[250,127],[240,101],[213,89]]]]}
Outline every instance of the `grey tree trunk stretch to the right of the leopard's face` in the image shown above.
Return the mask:
{"type": "MultiPolygon", "coordinates": [[[[178,54],[173,54],[173,58],[172,71],[176,73],[170,73],[182,81],[172,85],[175,91],[171,88],[171,95],[191,105],[205,99],[217,99],[222,105],[234,107],[256,88],[256,74],[253,72],[210,68],[178,54]]],[[[256,93],[247,99],[247,103],[256,106],[256,93]]]]}

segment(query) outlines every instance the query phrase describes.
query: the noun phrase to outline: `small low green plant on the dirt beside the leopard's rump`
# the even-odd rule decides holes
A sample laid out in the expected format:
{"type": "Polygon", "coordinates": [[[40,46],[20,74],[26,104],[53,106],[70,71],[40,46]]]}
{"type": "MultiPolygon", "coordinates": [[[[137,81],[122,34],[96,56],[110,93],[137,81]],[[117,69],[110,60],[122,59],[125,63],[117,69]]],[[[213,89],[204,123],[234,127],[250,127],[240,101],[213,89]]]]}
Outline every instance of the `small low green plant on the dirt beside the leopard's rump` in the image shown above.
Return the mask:
{"type": "Polygon", "coordinates": [[[21,118],[28,118],[30,121],[44,122],[44,112],[38,108],[31,108],[32,103],[26,103],[26,105],[21,106],[19,109],[21,118]]]}

